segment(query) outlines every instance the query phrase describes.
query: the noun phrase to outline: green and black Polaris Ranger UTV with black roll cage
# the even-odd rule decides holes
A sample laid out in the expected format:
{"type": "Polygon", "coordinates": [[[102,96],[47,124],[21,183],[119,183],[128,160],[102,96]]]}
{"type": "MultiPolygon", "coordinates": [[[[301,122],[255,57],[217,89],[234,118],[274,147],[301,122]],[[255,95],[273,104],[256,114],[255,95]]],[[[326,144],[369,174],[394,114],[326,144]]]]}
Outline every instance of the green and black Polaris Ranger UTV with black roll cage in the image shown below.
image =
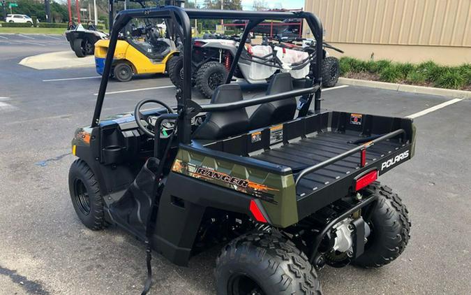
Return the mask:
{"type": "Polygon", "coordinates": [[[69,187],[87,227],[117,224],[144,241],[143,294],[153,250],[186,266],[192,255],[222,247],[217,294],[320,294],[316,271],[325,264],[379,267],[408,244],[408,210],[376,180],[413,156],[412,120],[322,110],[322,55],[301,89],[289,73],[255,99],[230,83],[251,29],[293,17],[306,20],[322,52],[322,24],[306,12],[162,6],[117,14],[93,121],[72,141],[79,159],[69,187]],[[135,17],[174,24],[184,56],[177,106],[144,99],[133,113],[100,120],[119,31],[135,17]],[[194,18],[249,21],[226,84],[208,104],[191,100],[194,18]],[[148,103],[160,106],[141,110],[148,103]],[[249,117],[246,107],[256,105],[249,117]]]}

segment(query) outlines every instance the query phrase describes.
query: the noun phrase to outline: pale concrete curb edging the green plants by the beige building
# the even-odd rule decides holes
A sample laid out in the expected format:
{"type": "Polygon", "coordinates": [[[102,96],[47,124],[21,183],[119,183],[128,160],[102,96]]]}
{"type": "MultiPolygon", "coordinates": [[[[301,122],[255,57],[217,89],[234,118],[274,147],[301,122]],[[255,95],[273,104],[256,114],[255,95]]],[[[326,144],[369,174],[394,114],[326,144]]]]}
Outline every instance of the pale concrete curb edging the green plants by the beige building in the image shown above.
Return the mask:
{"type": "Polygon", "coordinates": [[[352,85],[352,86],[372,87],[372,88],[419,93],[419,94],[440,95],[440,96],[454,97],[458,99],[471,99],[471,91],[465,91],[465,90],[443,89],[443,88],[424,87],[424,86],[416,86],[416,85],[378,82],[378,81],[370,81],[370,80],[357,80],[357,79],[350,79],[350,78],[338,78],[338,82],[341,84],[352,85]]]}

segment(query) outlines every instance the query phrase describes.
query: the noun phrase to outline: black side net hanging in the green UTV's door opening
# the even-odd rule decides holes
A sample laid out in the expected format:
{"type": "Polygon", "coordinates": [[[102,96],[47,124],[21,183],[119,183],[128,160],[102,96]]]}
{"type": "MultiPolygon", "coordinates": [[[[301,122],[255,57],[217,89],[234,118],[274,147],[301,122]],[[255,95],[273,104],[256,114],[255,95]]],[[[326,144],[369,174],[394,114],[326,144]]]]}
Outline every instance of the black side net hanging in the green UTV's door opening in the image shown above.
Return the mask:
{"type": "Polygon", "coordinates": [[[124,196],[110,207],[113,221],[141,240],[146,240],[149,214],[156,211],[152,201],[158,189],[158,165],[158,159],[147,159],[124,196]]]}

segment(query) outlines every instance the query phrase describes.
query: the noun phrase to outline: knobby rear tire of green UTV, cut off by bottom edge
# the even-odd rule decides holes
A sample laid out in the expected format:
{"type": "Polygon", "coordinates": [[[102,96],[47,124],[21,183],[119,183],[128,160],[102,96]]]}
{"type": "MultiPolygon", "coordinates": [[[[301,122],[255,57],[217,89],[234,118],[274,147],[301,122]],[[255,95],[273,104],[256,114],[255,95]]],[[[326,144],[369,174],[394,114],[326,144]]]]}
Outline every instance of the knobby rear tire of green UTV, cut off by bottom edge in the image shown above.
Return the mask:
{"type": "Polygon", "coordinates": [[[322,294],[306,254],[280,233],[239,236],[216,259],[218,295],[322,294]]]}

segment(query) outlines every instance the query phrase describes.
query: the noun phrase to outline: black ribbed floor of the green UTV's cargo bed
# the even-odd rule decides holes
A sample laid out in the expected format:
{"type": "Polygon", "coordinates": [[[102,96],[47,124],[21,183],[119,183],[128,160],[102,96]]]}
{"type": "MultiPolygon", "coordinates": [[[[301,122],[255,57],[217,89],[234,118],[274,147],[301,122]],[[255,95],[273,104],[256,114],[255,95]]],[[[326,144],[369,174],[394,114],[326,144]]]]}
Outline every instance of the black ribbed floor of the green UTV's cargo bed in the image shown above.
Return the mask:
{"type": "MultiPolygon", "coordinates": [[[[348,143],[360,139],[358,132],[347,131],[345,134],[327,131],[297,141],[290,141],[289,144],[266,150],[261,154],[253,155],[255,159],[269,161],[274,164],[295,168],[312,166],[322,161],[330,159],[351,150],[357,145],[348,143]]],[[[397,141],[383,141],[377,143],[366,150],[366,163],[377,161],[390,152],[398,150],[403,145],[397,141]]],[[[335,164],[331,164],[320,170],[306,175],[297,185],[297,196],[302,198],[306,194],[311,194],[313,190],[321,189],[325,185],[341,180],[349,173],[359,169],[360,153],[346,157],[335,164]]]]}

